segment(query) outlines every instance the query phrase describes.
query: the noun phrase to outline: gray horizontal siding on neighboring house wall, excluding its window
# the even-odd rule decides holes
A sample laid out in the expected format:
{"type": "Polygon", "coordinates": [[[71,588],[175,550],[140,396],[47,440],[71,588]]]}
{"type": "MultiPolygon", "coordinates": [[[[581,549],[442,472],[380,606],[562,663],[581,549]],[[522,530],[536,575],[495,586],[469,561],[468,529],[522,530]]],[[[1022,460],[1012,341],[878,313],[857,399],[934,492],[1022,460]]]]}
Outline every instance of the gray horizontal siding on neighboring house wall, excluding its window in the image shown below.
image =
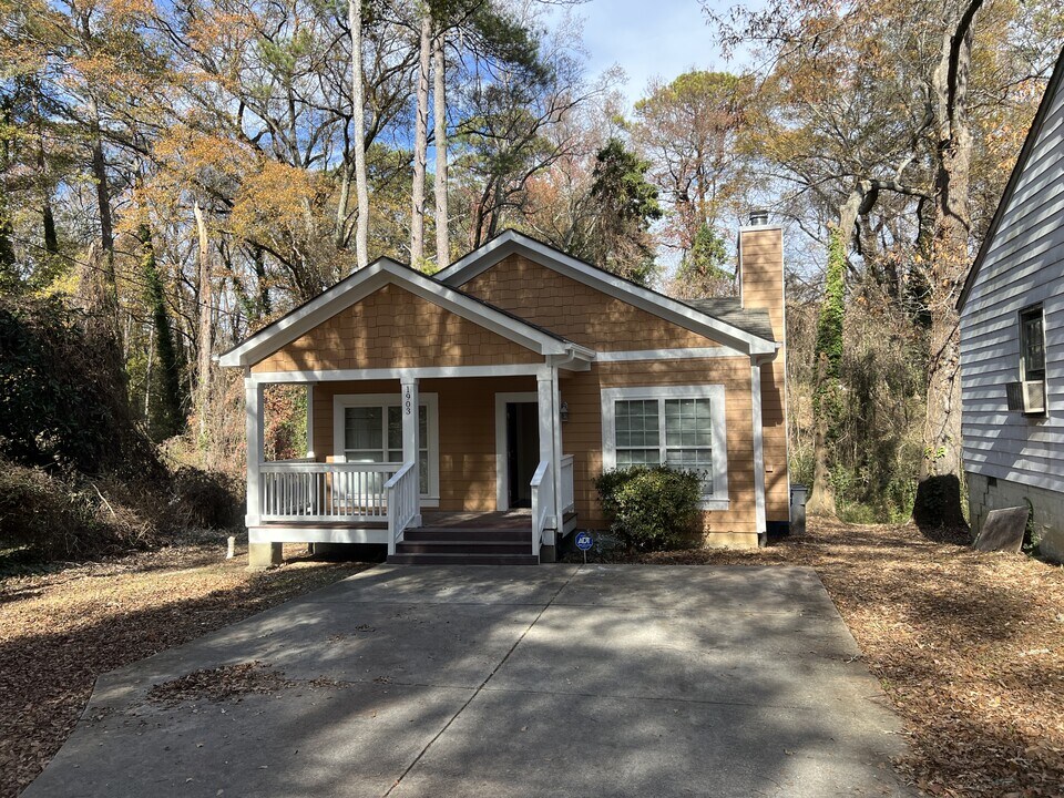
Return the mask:
{"type": "MultiPolygon", "coordinates": [[[[1064,82],[1061,83],[1064,86],[1064,82]]],[[[964,466],[1064,491],[1064,90],[1057,89],[961,313],[964,466]],[[1010,412],[1020,310],[1043,304],[1045,418],[1010,412]]]]}

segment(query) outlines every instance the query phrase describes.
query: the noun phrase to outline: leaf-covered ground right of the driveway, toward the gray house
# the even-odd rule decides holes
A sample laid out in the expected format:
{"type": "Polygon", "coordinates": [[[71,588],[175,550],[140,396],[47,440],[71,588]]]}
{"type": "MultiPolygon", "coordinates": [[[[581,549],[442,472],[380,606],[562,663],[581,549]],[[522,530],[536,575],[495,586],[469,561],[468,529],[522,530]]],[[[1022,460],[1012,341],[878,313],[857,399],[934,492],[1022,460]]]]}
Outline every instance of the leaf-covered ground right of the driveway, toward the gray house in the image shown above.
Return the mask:
{"type": "Polygon", "coordinates": [[[637,561],[815,567],[904,720],[908,779],[942,796],[1064,795],[1061,566],[822,520],[760,550],[637,561]]]}

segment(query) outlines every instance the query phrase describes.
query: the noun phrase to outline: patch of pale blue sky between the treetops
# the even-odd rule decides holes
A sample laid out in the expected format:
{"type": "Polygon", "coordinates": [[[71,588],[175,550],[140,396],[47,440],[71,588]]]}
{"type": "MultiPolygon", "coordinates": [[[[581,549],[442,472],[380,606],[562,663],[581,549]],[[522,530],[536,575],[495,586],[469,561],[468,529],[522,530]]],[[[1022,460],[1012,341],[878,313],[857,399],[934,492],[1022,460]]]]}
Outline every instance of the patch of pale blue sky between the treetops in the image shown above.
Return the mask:
{"type": "MultiPolygon", "coordinates": [[[[726,10],[734,3],[714,4],[726,10]]],[[[590,0],[575,13],[584,19],[589,71],[597,74],[620,64],[630,103],[643,96],[655,75],[668,81],[693,68],[741,69],[720,54],[699,0],[590,0]]]]}

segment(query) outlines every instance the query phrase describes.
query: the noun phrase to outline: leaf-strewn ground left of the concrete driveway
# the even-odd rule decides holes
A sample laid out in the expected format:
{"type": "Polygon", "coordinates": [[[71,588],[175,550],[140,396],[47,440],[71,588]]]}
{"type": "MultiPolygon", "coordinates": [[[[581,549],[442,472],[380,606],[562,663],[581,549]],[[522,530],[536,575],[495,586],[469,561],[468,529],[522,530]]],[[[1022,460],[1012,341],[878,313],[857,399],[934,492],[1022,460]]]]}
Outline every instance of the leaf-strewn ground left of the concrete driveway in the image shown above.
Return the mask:
{"type": "Polygon", "coordinates": [[[0,798],[55,755],[100,674],[369,567],[294,559],[248,573],[246,554],[223,556],[175,545],[0,581],[0,798]]]}

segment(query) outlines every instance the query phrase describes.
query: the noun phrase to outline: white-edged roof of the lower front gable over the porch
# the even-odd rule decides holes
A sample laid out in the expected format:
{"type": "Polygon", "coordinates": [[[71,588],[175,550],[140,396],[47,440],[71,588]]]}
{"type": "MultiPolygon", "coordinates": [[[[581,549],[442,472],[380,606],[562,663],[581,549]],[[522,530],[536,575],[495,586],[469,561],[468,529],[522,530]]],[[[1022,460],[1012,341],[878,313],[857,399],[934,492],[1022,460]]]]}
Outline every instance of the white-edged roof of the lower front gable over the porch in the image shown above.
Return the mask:
{"type": "Polygon", "coordinates": [[[256,364],[388,284],[398,285],[541,355],[576,354],[584,360],[593,357],[593,352],[585,347],[550,330],[529,324],[462,290],[438,283],[409,266],[390,258],[379,258],[249,336],[222,355],[218,362],[227,367],[256,364]]]}

